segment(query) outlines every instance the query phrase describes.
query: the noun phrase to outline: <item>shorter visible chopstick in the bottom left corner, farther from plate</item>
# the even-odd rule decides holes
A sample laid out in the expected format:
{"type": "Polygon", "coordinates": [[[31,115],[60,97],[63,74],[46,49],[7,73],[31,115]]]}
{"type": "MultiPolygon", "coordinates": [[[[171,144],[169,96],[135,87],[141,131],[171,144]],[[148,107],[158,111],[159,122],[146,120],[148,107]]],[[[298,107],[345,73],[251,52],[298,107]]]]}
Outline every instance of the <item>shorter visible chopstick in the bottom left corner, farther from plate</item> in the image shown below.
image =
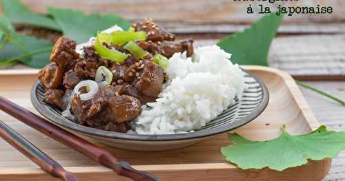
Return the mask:
{"type": "Polygon", "coordinates": [[[6,140],[12,147],[23,153],[26,157],[35,162],[41,169],[49,173],[55,178],[60,178],[65,181],[78,181],[72,173],[63,169],[61,164],[52,160],[49,156],[34,147],[31,142],[23,138],[20,134],[8,127],[0,120],[0,136],[6,140]]]}

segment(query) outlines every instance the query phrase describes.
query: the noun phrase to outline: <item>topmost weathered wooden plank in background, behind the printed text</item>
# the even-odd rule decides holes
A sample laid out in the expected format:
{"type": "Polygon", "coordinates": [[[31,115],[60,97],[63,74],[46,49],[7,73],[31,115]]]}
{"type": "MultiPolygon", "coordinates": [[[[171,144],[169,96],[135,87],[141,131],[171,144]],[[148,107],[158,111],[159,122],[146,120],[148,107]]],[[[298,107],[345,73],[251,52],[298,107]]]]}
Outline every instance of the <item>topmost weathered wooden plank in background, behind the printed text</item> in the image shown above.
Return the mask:
{"type": "Polygon", "coordinates": [[[230,33],[242,30],[249,23],[259,18],[257,13],[246,14],[248,5],[257,11],[258,4],[270,6],[272,10],[284,6],[332,6],[333,13],[327,15],[299,14],[288,17],[279,32],[290,33],[344,33],[345,3],[342,0],[304,0],[268,3],[264,1],[228,1],[228,0],[23,0],[35,12],[47,13],[46,7],[73,8],[86,13],[116,13],[130,21],[150,17],[166,27],[170,32],[186,33],[230,33]]]}

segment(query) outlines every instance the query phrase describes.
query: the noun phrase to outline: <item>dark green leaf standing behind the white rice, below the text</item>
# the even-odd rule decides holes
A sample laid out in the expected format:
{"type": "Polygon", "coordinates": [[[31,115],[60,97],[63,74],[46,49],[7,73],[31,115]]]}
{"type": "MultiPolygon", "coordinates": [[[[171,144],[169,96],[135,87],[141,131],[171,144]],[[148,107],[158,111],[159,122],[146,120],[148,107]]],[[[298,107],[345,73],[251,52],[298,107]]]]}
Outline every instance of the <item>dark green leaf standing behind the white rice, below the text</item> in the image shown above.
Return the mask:
{"type": "Polygon", "coordinates": [[[283,16],[274,12],[255,22],[244,32],[226,36],[217,43],[221,49],[232,54],[231,61],[239,65],[268,66],[268,50],[283,16]]]}

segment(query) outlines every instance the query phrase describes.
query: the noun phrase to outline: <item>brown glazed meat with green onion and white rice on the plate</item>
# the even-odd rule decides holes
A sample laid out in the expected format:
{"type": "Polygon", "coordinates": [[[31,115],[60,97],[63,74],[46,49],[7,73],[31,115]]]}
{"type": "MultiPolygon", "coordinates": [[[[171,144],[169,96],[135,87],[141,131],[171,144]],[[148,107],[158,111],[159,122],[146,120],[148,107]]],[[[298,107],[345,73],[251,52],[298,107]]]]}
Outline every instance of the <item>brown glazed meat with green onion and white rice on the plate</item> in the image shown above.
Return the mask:
{"type": "Polygon", "coordinates": [[[45,101],[96,129],[177,134],[200,129],[246,85],[244,72],[217,45],[193,47],[145,19],[113,26],[77,45],[61,37],[39,72],[45,101]]]}

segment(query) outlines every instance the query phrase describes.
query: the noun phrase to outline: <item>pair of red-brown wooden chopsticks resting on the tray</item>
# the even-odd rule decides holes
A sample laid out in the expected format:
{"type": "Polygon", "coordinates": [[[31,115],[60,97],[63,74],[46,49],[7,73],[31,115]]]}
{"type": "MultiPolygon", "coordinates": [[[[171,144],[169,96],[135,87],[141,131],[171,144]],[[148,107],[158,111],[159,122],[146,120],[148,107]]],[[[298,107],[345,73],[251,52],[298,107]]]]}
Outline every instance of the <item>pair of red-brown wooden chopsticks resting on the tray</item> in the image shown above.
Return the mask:
{"type": "MultiPolygon", "coordinates": [[[[92,160],[99,162],[103,166],[114,170],[118,175],[138,181],[159,180],[150,173],[133,169],[130,167],[128,162],[117,160],[108,151],[93,145],[87,140],[83,140],[83,138],[71,134],[65,129],[61,129],[57,125],[44,120],[36,114],[33,114],[31,111],[12,103],[10,100],[7,100],[2,96],[0,96],[0,109],[10,114],[14,118],[17,118],[26,125],[36,129],[37,131],[46,134],[46,136],[49,136],[50,138],[53,138],[58,142],[75,149],[76,151],[79,151],[79,153],[88,156],[92,160]]],[[[77,180],[72,173],[65,171],[59,163],[52,160],[52,158],[34,147],[30,142],[28,142],[28,140],[19,136],[19,134],[2,122],[0,124],[0,136],[9,142],[13,147],[21,151],[21,153],[33,160],[44,171],[50,173],[50,175],[66,181],[77,180]]]]}

